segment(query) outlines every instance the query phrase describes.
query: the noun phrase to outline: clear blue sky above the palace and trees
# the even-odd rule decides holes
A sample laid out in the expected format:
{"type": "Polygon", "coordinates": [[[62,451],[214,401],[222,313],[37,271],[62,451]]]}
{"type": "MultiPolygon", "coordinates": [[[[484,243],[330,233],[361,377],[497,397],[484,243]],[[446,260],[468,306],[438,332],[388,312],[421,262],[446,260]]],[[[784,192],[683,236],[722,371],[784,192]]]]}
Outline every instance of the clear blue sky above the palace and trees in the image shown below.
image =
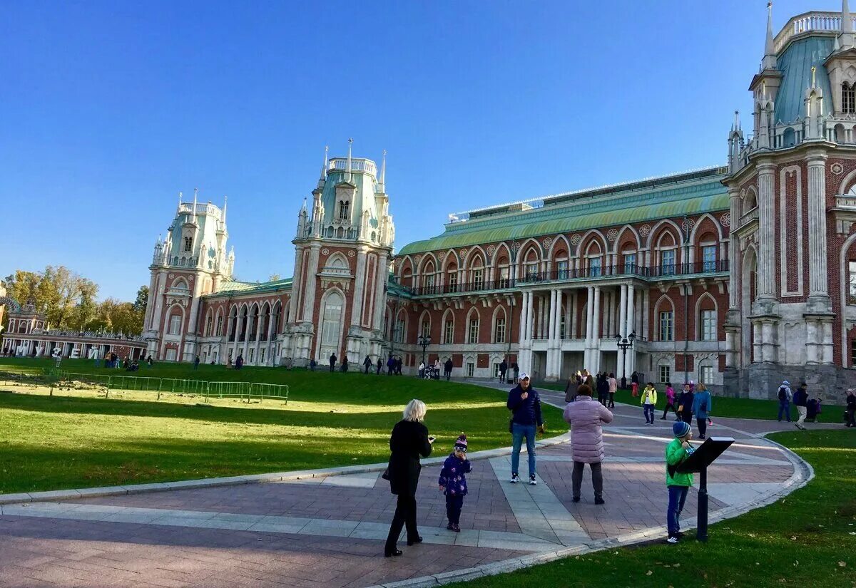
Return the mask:
{"type": "MultiPolygon", "coordinates": [[[[837,0],[780,0],[774,28],[837,0]]],[[[379,162],[398,247],[449,212],[720,164],[764,0],[5,2],[0,275],[148,284],[177,192],[241,279],[292,273],[325,144],[379,162]]],[[[744,117],[744,126],[750,118],[744,117]]]]}

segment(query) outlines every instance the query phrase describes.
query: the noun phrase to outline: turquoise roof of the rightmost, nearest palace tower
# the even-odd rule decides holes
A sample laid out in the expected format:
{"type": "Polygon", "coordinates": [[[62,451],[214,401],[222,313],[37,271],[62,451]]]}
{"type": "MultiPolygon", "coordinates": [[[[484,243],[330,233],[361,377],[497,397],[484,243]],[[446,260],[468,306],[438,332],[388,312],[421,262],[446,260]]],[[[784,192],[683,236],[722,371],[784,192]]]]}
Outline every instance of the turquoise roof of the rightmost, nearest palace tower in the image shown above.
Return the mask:
{"type": "Polygon", "coordinates": [[[805,118],[805,90],[811,86],[811,67],[815,67],[815,83],[823,91],[824,115],[832,108],[832,91],[823,62],[832,52],[834,37],[811,35],[791,44],[776,59],[782,72],[782,85],[776,94],[776,123],[788,124],[805,118]]]}

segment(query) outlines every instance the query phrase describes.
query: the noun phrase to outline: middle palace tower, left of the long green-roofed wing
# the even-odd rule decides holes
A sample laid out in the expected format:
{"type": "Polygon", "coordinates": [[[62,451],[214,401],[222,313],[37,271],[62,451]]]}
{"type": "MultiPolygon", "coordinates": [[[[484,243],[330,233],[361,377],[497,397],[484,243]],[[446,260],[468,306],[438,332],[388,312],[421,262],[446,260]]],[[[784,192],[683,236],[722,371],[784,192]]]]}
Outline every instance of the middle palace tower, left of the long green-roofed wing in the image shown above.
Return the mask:
{"type": "Polygon", "coordinates": [[[380,353],[386,282],[395,227],[380,174],[370,159],[328,159],[298,214],[288,331],[295,362],[360,363],[380,353]]]}

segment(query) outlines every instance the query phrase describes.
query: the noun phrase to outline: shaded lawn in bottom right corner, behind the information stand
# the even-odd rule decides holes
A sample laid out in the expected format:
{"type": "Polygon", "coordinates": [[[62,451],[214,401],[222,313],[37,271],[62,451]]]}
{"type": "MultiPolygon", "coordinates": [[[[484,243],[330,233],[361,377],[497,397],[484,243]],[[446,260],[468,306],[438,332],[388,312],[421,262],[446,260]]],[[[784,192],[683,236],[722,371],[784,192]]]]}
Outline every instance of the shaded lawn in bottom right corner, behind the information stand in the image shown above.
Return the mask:
{"type": "Polygon", "coordinates": [[[817,477],[767,508],[710,526],[707,544],[687,537],[677,545],[658,541],[611,549],[475,580],[472,585],[852,588],[856,585],[856,434],[818,430],[777,433],[771,438],[810,462],[817,477]]]}

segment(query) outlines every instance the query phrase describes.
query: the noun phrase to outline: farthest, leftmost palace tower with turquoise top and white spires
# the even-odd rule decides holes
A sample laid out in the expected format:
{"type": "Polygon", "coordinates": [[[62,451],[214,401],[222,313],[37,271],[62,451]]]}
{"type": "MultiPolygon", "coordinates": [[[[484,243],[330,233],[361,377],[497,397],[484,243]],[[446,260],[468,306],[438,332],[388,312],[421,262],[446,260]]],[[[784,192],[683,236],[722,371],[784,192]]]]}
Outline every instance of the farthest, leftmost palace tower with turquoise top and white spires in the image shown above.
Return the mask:
{"type": "Polygon", "coordinates": [[[227,253],[226,203],[182,202],[166,238],[155,242],[152,281],[143,322],[146,354],[167,361],[192,362],[197,355],[199,304],[205,294],[230,279],[234,251],[227,253]]]}

